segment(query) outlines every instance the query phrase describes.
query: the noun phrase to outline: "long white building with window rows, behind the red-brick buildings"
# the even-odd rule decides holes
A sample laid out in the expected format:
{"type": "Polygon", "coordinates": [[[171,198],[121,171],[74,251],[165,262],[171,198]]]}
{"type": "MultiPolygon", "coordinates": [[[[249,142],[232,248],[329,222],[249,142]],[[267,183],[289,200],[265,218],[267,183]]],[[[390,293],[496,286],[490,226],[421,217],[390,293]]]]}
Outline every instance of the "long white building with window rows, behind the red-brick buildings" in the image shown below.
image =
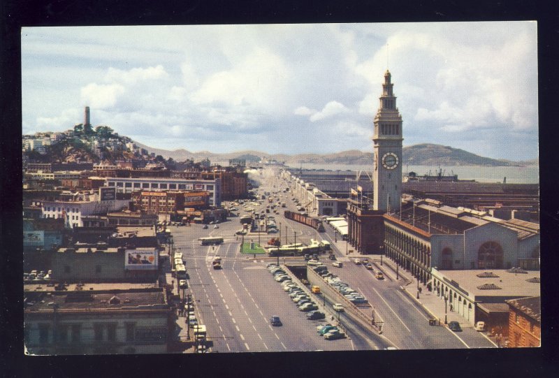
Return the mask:
{"type": "Polygon", "coordinates": [[[208,191],[208,205],[219,207],[222,203],[221,180],[186,180],[166,177],[107,177],[108,187],[115,187],[117,193],[149,191],[208,191]]]}

